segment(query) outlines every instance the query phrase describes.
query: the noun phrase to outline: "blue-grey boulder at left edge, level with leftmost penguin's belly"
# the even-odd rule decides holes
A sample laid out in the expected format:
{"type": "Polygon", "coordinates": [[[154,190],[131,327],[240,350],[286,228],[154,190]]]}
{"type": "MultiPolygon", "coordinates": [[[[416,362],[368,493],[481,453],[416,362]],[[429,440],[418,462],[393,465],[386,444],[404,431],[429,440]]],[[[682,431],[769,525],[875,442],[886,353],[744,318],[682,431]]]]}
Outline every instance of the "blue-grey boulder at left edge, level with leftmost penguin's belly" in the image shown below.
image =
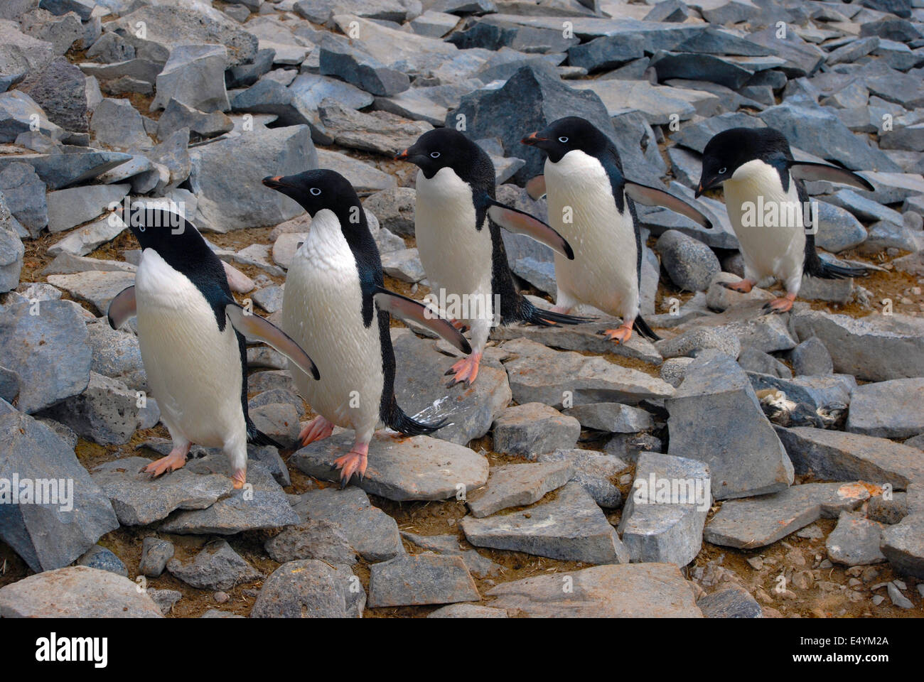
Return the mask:
{"type": "Polygon", "coordinates": [[[8,302],[0,314],[0,357],[19,375],[23,412],[77,396],[90,382],[86,323],[67,301],[8,302]]]}

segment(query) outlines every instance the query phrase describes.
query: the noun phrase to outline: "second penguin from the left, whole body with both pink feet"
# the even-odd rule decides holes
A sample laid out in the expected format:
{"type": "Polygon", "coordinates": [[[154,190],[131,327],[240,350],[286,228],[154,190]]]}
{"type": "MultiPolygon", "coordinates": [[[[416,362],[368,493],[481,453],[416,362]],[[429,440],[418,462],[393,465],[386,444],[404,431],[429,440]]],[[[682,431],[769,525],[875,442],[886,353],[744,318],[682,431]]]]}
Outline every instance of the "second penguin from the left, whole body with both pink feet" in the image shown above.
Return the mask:
{"type": "Polygon", "coordinates": [[[423,423],[395,399],[391,315],[442,335],[463,353],[465,337],[432,307],[384,288],[382,259],[356,190],[332,170],[263,178],[263,184],[298,201],[311,216],[310,232],[289,265],[282,327],[310,348],[322,373],[311,381],[290,363],[295,384],[319,416],[302,430],[303,445],[326,438],[334,425],[353,429],[350,451],[334,460],[342,486],[366,472],[369,443],[381,420],[407,435],[432,433],[445,420],[423,423]]]}

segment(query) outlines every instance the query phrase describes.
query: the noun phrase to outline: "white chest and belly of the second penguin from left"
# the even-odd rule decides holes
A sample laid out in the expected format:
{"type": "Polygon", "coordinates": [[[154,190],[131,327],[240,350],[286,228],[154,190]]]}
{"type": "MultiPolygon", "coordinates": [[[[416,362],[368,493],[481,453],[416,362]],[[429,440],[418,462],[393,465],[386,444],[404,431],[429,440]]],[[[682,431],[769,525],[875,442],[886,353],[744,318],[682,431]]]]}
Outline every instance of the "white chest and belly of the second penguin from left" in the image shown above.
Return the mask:
{"type": "Polygon", "coordinates": [[[383,391],[378,312],[362,321],[356,258],[336,215],[319,211],[286,275],[282,328],[314,360],[314,381],[289,362],[298,392],[311,409],[338,426],[371,433],[383,391]]]}

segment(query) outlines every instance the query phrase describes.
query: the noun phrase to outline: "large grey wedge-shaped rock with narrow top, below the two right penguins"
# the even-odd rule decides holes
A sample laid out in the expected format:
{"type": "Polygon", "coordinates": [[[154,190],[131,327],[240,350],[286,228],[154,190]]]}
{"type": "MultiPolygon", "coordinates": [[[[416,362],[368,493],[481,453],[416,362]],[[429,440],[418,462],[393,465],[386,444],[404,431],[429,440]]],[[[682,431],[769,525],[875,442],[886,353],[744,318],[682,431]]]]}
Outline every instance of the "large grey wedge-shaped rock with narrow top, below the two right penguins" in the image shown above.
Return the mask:
{"type": "Polygon", "coordinates": [[[793,465],[734,359],[702,353],[664,405],[670,413],[668,454],[708,464],[715,499],[774,493],[792,484],[793,465]]]}

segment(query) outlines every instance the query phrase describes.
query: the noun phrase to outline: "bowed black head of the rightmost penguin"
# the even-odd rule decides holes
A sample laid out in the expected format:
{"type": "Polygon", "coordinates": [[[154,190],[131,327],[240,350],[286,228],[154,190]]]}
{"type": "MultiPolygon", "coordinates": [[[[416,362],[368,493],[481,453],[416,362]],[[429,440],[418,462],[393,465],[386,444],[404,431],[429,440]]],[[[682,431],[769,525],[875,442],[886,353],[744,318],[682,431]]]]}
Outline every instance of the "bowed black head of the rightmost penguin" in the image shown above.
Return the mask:
{"type": "Polygon", "coordinates": [[[729,128],[715,135],[702,152],[702,175],[696,196],[719,186],[743,164],[783,154],[792,158],[789,142],[776,128],[729,128]]]}

